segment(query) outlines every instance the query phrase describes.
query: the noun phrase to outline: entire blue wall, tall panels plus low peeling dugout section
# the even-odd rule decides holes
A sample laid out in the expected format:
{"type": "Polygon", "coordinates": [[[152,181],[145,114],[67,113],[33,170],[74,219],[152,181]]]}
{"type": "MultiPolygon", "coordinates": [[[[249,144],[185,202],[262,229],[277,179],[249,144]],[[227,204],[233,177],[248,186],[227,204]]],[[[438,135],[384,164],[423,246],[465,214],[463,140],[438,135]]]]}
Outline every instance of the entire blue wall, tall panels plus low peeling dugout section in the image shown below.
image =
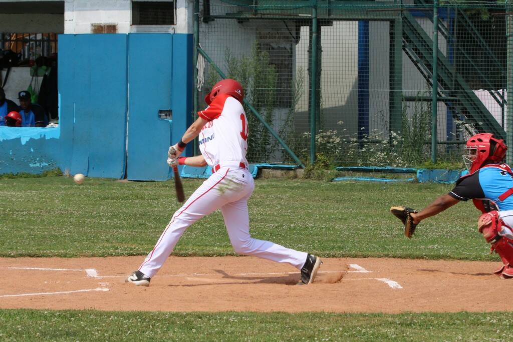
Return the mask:
{"type": "Polygon", "coordinates": [[[60,128],[0,129],[0,173],[170,178],[167,148],[191,121],[192,35],[64,34],[58,63],[60,128]]]}

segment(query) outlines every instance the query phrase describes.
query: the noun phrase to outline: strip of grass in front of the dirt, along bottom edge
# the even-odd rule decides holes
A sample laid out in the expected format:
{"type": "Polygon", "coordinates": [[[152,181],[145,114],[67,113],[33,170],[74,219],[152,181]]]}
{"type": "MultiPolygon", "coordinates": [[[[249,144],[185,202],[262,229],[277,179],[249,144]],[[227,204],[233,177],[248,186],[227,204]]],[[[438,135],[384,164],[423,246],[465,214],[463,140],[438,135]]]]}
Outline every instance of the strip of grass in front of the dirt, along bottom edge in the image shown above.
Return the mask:
{"type": "Polygon", "coordinates": [[[0,339],[507,341],[513,313],[162,313],[2,310],[0,339]]]}

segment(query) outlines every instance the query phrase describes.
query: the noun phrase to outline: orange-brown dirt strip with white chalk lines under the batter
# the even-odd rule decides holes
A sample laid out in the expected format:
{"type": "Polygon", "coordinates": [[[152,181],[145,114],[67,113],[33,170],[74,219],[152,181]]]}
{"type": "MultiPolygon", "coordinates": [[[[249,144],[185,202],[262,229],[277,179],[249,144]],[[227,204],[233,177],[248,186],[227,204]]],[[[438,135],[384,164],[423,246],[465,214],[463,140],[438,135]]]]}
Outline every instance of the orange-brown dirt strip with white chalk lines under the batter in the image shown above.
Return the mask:
{"type": "Polygon", "coordinates": [[[0,258],[0,308],[145,311],[511,311],[500,263],[324,258],[298,285],[288,265],[254,257],[170,257],[151,286],[124,284],[143,257],[0,258]],[[493,303],[491,305],[490,303],[493,303]]]}

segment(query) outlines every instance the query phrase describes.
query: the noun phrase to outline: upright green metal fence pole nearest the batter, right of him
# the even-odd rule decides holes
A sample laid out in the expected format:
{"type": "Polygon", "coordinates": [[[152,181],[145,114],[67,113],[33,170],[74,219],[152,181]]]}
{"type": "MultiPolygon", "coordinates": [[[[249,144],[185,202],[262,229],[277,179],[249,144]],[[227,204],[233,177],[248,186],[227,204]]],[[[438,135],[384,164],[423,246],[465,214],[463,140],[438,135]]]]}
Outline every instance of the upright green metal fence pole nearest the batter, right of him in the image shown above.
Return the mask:
{"type": "Polygon", "coordinates": [[[315,164],[315,112],[317,112],[317,0],[312,6],[312,58],[310,67],[310,164],[315,164]]]}

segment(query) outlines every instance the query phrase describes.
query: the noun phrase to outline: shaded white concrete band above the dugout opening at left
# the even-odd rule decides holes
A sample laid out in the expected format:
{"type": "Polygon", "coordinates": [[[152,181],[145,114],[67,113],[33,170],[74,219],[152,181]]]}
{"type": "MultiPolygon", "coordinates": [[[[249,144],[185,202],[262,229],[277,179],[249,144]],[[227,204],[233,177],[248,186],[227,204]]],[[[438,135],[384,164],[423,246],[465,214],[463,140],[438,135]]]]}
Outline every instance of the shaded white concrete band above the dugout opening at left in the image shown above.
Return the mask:
{"type": "Polygon", "coordinates": [[[64,33],[62,14],[0,14],[2,32],[64,33]]]}

